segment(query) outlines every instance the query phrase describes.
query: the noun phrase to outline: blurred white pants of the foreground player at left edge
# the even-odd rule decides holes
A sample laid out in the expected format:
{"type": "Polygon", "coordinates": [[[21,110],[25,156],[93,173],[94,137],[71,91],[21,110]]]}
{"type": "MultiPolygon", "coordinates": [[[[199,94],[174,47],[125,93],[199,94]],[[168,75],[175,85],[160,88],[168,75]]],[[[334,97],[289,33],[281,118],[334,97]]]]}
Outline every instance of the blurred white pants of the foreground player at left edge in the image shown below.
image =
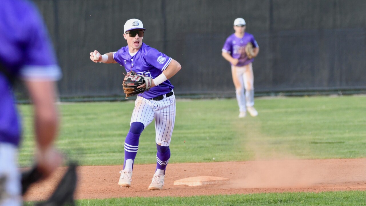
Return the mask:
{"type": "Polygon", "coordinates": [[[22,205],[17,161],[18,148],[0,143],[0,206],[22,205]]]}

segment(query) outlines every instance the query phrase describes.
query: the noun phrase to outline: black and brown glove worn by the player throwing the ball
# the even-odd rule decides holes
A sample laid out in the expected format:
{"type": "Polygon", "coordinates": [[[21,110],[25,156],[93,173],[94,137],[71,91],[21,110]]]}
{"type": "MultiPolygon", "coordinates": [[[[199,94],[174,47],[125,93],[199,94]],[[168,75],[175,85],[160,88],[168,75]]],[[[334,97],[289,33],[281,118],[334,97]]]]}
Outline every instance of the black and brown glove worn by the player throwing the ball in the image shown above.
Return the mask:
{"type": "Polygon", "coordinates": [[[138,95],[150,89],[152,78],[136,74],[134,71],[129,71],[123,80],[123,92],[126,94],[126,99],[130,96],[138,95]],[[137,88],[146,83],[145,87],[137,88]]]}

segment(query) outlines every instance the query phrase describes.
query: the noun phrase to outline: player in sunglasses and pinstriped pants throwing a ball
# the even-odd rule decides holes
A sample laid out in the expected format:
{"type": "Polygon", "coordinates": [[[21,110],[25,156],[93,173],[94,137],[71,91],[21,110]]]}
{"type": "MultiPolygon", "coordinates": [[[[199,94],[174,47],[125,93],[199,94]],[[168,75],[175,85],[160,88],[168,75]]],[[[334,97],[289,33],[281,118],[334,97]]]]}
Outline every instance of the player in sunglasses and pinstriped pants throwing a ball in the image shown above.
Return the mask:
{"type": "MultiPolygon", "coordinates": [[[[176,60],[142,43],[145,30],[140,20],[128,20],[124,24],[123,34],[127,46],[104,55],[100,55],[98,51],[90,52],[90,59],[93,62],[119,63],[126,71],[132,70],[153,79],[151,88],[139,94],[135,101],[130,131],[124,141],[124,164],[118,184],[120,187],[131,187],[139,137],[143,129],[155,119],[157,163],[149,190],[161,190],[170,158],[169,144],[175,121],[174,87],[168,79],[174,76],[181,66],[176,60]]],[[[145,87],[145,84],[140,87],[145,87]]]]}

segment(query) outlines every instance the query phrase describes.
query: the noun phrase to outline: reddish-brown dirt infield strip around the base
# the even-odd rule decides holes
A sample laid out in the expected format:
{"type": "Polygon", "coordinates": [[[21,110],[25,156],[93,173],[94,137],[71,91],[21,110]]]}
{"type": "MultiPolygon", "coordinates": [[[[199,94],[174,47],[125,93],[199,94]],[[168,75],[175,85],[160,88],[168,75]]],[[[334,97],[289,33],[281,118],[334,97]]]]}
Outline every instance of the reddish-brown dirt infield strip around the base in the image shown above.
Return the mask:
{"type": "MultiPolygon", "coordinates": [[[[249,162],[170,163],[164,190],[148,191],[155,165],[135,165],[131,188],[118,186],[122,166],[78,168],[77,199],[133,196],[193,196],[262,192],[321,192],[366,190],[366,159],[282,160],[249,162]],[[174,180],[196,176],[230,179],[225,185],[173,185],[174,180]]],[[[25,201],[46,199],[60,180],[60,168],[47,181],[31,188],[25,201]]]]}

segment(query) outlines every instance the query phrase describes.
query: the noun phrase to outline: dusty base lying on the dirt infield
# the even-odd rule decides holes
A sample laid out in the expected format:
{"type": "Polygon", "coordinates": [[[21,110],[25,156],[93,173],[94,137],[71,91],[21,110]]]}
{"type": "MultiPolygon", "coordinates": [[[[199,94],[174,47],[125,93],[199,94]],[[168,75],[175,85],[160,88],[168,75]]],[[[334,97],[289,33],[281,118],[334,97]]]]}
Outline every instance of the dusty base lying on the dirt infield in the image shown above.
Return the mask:
{"type": "Polygon", "coordinates": [[[199,186],[207,184],[227,184],[230,179],[224,177],[212,177],[212,176],[199,176],[199,177],[188,177],[180,180],[175,180],[174,185],[188,185],[188,186],[199,186]]]}

